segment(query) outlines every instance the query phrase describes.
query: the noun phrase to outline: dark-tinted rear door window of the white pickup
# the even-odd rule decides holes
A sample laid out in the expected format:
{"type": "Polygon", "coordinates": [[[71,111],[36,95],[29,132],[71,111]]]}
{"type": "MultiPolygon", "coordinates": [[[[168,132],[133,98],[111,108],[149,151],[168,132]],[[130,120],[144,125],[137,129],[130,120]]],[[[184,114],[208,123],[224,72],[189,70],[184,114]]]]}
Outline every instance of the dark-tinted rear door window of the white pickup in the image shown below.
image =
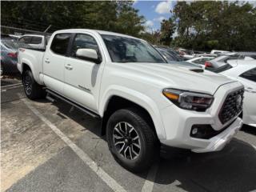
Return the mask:
{"type": "Polygon", "coordinates": [[[53,42],[51,42],[50,50],[55,54],[66,54],[66,50],[69,46],[70,34],[56,34],[53,42]]]}

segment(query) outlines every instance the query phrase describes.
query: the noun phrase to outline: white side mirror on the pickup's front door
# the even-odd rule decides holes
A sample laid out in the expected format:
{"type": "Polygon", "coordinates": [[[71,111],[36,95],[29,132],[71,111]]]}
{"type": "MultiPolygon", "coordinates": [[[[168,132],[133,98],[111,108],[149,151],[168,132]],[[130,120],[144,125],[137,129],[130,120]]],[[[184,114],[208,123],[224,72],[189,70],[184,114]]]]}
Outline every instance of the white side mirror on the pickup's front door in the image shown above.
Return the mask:
{"type": "Polygon", "coordinates": [[[99,64],[102,62],[102,59],[98,57],[96,50],[93,49],[78,49],[76,52],[77,58],[81,58],[90,62],[95,62],[99,64]]]}

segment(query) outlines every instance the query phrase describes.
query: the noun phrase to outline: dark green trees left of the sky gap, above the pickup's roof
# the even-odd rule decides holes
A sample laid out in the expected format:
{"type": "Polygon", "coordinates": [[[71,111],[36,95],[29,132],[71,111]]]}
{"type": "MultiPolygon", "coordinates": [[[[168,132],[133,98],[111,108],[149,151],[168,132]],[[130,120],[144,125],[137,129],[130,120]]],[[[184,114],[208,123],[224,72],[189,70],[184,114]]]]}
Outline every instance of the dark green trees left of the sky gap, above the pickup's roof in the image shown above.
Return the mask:
{"type": "Polygon", "coordinates": [[[118,1],[38,1],[1,2],[2,25],[43,31],[86,28],[110,30],[138,36],[144,18],[133,2],[118,1]]]}

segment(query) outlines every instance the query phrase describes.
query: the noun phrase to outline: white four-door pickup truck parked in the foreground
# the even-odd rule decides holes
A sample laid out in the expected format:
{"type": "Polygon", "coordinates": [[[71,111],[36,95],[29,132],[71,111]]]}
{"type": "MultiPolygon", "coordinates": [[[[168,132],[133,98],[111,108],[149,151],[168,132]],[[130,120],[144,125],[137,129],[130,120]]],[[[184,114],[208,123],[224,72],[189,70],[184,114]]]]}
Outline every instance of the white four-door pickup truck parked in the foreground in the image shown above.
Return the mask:
{"type": "Polygon", "coordinates": [[[61,98],[102,121],[114,158],[145,170],[160,146],[221,150],[242,126],[240,82],[166,63],[142,39],[100,30],[59,30],[45,51],[20,48],[30,99],[61,98]]]}

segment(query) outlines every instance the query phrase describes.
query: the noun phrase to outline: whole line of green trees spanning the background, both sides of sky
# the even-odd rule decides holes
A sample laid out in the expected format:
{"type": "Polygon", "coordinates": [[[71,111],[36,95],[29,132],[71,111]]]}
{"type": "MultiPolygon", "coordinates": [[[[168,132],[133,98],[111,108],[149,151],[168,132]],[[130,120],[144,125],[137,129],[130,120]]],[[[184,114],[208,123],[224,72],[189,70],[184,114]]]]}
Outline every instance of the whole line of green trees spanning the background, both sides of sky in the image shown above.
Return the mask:
{"type": "Polygon", "coordinates": [[[256,50],[256,8],[227,1],[177,2],[161,30],[142,33],[145,19],[129,1],[1,2],[2,26],[50,32],[69,28],[110,30],[153,44],[194,50],[256,50]],[[178,34],[173,37],[174,34],[178,34]]]}

